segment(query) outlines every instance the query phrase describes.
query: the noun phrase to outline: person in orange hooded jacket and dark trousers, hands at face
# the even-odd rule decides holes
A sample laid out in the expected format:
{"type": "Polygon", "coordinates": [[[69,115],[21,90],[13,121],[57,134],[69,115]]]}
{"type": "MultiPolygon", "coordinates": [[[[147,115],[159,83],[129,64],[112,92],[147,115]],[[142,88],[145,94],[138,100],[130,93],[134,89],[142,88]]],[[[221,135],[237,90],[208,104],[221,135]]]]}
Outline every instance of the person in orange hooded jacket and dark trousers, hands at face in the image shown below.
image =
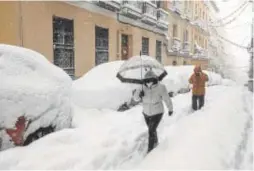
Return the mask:
{"type": "Polygon", "coordinates": [[[189,78],[189,83],[192,84],[192,109],[201,109],[205,103],[205,83],[208,81],[208,76],[202,72],[200,66],[195,66],[194,73],[189,78]],[[198,104],[197,104],[198,103],[198,104]]]}

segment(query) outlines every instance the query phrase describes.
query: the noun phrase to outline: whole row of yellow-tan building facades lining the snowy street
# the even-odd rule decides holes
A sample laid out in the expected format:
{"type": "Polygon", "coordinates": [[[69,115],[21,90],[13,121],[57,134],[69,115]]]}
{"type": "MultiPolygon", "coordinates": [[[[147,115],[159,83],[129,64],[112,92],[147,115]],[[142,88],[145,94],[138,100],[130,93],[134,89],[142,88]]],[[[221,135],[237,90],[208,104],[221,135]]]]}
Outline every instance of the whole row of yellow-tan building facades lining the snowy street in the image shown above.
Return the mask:
{"type": "Polygon", "coordinates": [[[140,53],[206,68],[198,21],[207,15],[203,1],[1,1],[0,43],[38,51],[75,78],[140,53]]]}

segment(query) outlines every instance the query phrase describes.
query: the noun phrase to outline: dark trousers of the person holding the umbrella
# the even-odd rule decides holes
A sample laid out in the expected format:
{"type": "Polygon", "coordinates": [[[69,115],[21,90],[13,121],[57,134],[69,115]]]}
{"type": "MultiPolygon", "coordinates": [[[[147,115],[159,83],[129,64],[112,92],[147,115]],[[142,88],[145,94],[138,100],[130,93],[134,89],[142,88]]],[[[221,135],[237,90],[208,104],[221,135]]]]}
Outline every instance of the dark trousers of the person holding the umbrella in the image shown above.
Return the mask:
{"type": "Polygon", "coordinates": [[[162,113],[153,115],[153,116],[147,116],[144,114],[146,125],[148,127],[148,133],[149,133],[149,139],[148,139],[148,153],[156,147],[158,144],[158,137],[157,137],[157,127],[161,121],[162,113]]]}

